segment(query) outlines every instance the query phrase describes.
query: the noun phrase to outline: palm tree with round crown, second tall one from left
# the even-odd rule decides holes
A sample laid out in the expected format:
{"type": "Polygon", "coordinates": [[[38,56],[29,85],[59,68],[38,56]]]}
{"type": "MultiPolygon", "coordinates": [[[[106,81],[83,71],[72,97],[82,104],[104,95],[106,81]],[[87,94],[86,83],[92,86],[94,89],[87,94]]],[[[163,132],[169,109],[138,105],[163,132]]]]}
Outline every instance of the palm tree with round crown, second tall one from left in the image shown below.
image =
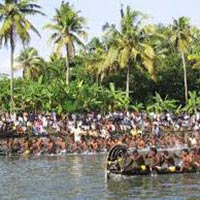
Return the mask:
{"type": "Polygon", "coordinates": [[[84,31],[85,18],[79,16],[69,3],[62,2],[52,24],[47,24],[45,28],[54,30],[50,40],[56,44],[56,52],[60,54],[62,48],[66,51],[66,85],[69,84],[69,63],[75,55],[75,44],[84,47],[79,37],[86,37],[84,31]]]}

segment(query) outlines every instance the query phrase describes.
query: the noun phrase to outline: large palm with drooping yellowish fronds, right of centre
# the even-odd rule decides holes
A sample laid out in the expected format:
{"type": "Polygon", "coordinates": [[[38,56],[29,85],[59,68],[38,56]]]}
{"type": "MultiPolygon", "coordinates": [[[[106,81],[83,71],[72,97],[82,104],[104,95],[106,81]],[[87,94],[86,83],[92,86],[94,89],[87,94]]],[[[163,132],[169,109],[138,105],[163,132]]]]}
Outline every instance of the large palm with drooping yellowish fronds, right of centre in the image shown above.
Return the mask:
{"type": "Polygon", "coordinates": [[[106,37],[110,37],[111,41],[106,65],[114,65],[116,67],[118,63],[121,69],[126,69],[127,97],[129,97],[131,67],[141,66],[146,68],[155,80],[153,66],[155,54],[153,48],[148,43],[147,34],[142,27],[144,18],[146,16],[127,6],[126,12],[121,9],[120,30],[114,25],[104,27],[107,30],[106,37]],[[113,64],[110,65],[110,63],[113,64]]]}

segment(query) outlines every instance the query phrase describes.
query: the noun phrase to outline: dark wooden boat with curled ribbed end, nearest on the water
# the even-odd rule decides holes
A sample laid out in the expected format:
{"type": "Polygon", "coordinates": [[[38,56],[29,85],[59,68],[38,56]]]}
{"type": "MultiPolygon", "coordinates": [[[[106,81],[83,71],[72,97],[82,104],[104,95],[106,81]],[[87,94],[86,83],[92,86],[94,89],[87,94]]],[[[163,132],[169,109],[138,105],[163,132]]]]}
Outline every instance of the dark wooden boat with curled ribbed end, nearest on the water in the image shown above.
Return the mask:
{"type": "Polygon", "coordinates": [[[172,166],[168,168],[155,168],[150,169],[149,166],[135,167],[131,170],[122,171],[118,166],[119,160],[123,160],[124,156],[128,153],[126,145],[115,145],[108,152],[106,160],[106,177],[109,179],[113,176],[145,176],[145,175],[162,175],[162,174],[183,174],[183,173],[198,173],[198,169],[190,169],[181,171],[180,166],[172,166]]]}

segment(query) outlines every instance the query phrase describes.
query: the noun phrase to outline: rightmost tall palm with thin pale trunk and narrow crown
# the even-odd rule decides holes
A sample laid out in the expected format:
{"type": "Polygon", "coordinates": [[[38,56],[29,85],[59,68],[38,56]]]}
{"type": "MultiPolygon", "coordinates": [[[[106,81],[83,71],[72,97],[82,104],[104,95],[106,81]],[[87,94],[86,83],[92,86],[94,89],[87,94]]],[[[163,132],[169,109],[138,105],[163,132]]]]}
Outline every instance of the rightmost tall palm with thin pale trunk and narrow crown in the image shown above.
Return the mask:
{"type": "Polygon", "coordinates": [[[175,45],[181,56],[183,65],[183,75],[184,75],[184,90],[185,90],[185,103],[188,100],[188,85],[187,85],[187,69],[185,54],[187,52],[187,47],[192,38],[190,20],[187,17],[180,17],[179,19],[174,19],[173,25],[171,27],[172,36],[171,40],[175,45]]]}

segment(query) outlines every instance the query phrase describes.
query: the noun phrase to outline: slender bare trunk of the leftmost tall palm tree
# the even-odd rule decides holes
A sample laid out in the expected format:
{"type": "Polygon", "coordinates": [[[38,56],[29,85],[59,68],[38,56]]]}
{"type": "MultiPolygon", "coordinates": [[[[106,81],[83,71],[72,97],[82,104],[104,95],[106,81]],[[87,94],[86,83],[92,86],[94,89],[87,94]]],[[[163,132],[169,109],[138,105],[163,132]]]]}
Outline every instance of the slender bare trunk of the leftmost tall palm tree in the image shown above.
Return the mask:
{"type": "Polygon", "coordinates": [[[14,38],[13,33],[11,31],[10,34],[10,114],[14,111],[14,89],[13,89],[13,79],[14,79],[14,51],[15,51],[15,44],[14,44],[14,38]]]}

